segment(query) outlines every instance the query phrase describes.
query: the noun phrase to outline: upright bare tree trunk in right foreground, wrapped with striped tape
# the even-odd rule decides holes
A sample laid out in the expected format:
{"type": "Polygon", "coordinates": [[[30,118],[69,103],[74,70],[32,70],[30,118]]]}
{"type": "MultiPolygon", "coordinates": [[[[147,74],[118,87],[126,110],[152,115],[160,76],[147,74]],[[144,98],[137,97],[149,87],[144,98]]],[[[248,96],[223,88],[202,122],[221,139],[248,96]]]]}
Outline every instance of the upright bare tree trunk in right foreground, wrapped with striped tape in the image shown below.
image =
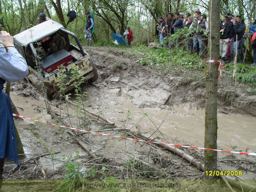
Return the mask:
{"type": "MultiPolygon", "coordinates": [[[[209,60],[218,60],[220,50],[219,17],[220,0],[210,0],[209,13],[209,60]],[[216,35],[217,34],[217,35],[216,35]]],[[[217,149],[217,86],[219,63],[207,63],[205,72],[205,133],[204,148],[217,149]]],[[[205,171],[217,170],[217,152],[204,151],[205,171]]],[[[214,179],[215,177],[207,177],[214,179]]]]}

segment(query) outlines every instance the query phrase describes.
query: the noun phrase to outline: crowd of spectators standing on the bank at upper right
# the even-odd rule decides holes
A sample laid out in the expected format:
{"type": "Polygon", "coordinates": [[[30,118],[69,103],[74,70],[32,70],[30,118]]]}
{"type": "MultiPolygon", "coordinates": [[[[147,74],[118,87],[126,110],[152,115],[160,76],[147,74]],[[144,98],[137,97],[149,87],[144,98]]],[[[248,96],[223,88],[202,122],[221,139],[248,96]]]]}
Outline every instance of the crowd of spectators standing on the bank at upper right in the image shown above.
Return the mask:
{"type": "MultiPolygon", "coordinates": [[[[241,15],[235,17],[228,11],[229,9],[220,18],[220,59],[233,62],[235,56],[239,55],[241,58],[239,62],[243,62],[246,34],[256,32],[256,21],[247,28],[241,15]]],[[[163,47],[184,46],[190,53],[199,53],[201,57],[207,57],[208,20],[199,8],[194,9],[193,17],[190,13],[184,15],[182,12],[176,12],[159,17],[157,21],[155,35],[163,47]],[[174,39],[169,38],[176,33],[178,35],[173,36],[174,39]]],[[[256,66],[256,48],[252,46],[252,49],[254,62],[251,65],[256,66]]]]}

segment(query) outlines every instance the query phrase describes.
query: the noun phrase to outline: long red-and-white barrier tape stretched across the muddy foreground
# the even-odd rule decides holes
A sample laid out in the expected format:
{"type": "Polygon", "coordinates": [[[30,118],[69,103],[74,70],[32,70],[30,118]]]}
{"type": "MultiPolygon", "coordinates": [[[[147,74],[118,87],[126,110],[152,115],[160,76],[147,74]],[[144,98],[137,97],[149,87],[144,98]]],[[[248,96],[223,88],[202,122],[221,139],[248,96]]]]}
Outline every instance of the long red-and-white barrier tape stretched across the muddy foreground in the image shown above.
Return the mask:
{"type": "Polygon", "coordinates": [[[175,147],[184,147],[184,148],[193,148],[193,149],[204,149],[204,150],[210,150],[210,151],[220,151],[220,152],[227,152],[227,153],[236,153],[236,154],[242,154],[242,155],[256,156],[256,153],[246,153],[246,152],[238,152],[238,151],[227,151],[227,150],[219,150],[219,149],[208,149],[208,148],[202,148],[202,147],[191,147],[191,146],[186,146],[186,145],[176,145],[176,144],[170,144],[170,143],[159,143],[159,142],[154,142],[154,141],[146,141],[146,140],[139,140],[139,139],[132,139],[132,138],[127,138],[127,137],[108,135],[108,134],[104,134],[104,133],[97,133],[97,132],[86,131],[86,130],[82,130],[82,129],[76,129],[76,128],[73,128],[73,127],[66,127],[66,126],[62,126],[62,125],[56,125],[56,124],[52,124],[52,123],[47,123],[47,122],[31,119],[31,118],[20,116],[20,115],[16,115],[16,114],[12,114],[12,115],[16,116],[16,117],[21,117],[21,118],[24,118],[24,119],[28,119],[28,120],[40,122],[40,123],[54,125],[54,126],[57,126],[57,127],[63,127],[63,128],[73,129],[73,130],[76,130],[76,131],[87,132],[87,133],[94,133],[94,134],[97,134],[97,135],[105,135],[105,136],[108,136],[108,137],[116,137],[116,138],[121,138],[121,139],[128,139],[128,140],[141,141],[141,142],[147,142],[147,143],[156,143],[156,144],[162,144],[162,145],[171,145],[171,146],[175,146],[175,147]]]}

